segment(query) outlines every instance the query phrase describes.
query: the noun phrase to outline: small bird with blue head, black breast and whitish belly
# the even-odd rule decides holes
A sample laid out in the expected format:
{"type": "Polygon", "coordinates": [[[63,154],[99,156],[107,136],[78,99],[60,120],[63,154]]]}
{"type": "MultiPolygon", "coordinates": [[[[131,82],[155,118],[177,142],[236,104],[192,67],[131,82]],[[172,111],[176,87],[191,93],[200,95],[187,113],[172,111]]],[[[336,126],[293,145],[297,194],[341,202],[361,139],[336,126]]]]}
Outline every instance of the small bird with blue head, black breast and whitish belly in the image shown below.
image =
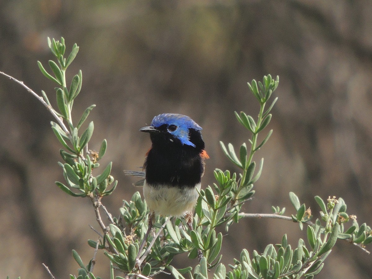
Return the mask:
{"type": "MultiPolygon", "coordinates": [[[[149,133],[151,140],[143,165],[143,194],[150,211],[144,241],[155,215],[184,217],[193,229],[192,212],[199,197],[205,160],[209,158],[201,130],[189,116],[177,113],[157,115],[150,126],[140,129],[149,133]]],[[[143,245],[139,253],[142,248],[143,245]]]]}

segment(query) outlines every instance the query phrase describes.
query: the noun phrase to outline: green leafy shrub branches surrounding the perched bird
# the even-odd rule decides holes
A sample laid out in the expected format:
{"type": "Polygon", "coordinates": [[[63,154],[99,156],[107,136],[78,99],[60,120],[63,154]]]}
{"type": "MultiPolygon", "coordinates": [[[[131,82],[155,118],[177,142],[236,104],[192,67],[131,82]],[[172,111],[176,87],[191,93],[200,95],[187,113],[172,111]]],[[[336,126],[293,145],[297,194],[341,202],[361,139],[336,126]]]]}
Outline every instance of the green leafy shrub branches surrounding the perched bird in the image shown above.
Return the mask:
{"type": "MultiPolygon", "coordinates": [[[[118,182],[110,174],[112,162],[100,174],[93,174],[99,168],[99,160],[105,155],[107,142],[102,141],[98,153],[91,151],[88,149],[88,144],[93,134],[93,122],[90,122],[83,132],[80,129],[95,105],[89,106],[83,112],[77,124],[71,118],[74,100],[82,86],[82,73],[79,71],[67,87],[65,72],[76,57],[79,48],[75,44],[71,53],[65,58],[66,47],[63,38],[60,41],[48,38],[48,45],[58,63],[53,60],[48,62],[53,75],[45,70],[41,62],[38,61],[38,65],[44,76],[57,84],[55,93],[58,110],[52,108],[44,91],[39,98],[57,119],[57,122],[51,122],[51,126],[62,145],[60,154],[63,163],[59,162],[59,165],[65,182],[56,182],[56,184],[73,197],[89,197],[101,229],[101,232],[96,230],[99,235],[98,241],[88,240],[88,244],[95,249],[94,256],[88,264],[84,264],[78,253],[73,251],[74,259],[80,268],[77,276],[71,275],[71,279],[99,278],[93,274],[95,255],[98,250],[104,250],[108,257],[110,278],[117,279],[148,278],[163,272],[170,272],[177,279],[301,277],[311,279],[321,271],[324,260],[331,253],[337,240],[348,240],[362,249],[371,243],[371,227],[366,224],[359,225],[355,216],[347,214],[347,206],[342,198],[329,197],[327,201],[323,201],[320,196],[315,196],[315,201],[320,208],[320,218],[315,219],[314,222],[311,221],[313,216],[310,208],[306,209],[305,204],[301,204],[293,192],[289,193],[289,199],[295,209],[295,214],[291,217],[285,216],[285,208],[281,209],[279,206],[272,206],[273,214],[241,212],[244,203],[254,195],[254,183],[259,179],[263,168],[263,158],[257,164],[253,160],[254,154],[263,147],[273,132],[270,130],[265,133],[266,136],[259,141],[258,136],[270,123],[272,118],[270,112],[278,100],[276,97],[266,108],[279,84],[279,77],[273,79],[268,75],[263,77],[262,82],[257,83],[256,80],[252,80],[248,83],[250,92],[260,105],[257,119],[245,112],[235,112],[237,121],[251,135],[248,144],[241,144],[238,152],[235,152],[231,143],[225,145],[220,142],[222,151],[241,169],[240,173],[216,169],[214,171],[216,182],[200,190],[193,230],[187,227],[183,219],[176,219],[172,223],[168,218],[158,216],[154,224],[155,235],[150,234],[145,248],[138,251],[148,228],[146,201],[141,198],[139,192],[134,193],[130,201],[124,201],[117,218],[112,217],[112,214],[102,205],[102,198],[111,195],[118,182]],[[105,212],[108,225],[102,220],[101,211],[105,212]],[[247,217],[270,217],[298,222],[301,230],[304,225],[306,226],[306,240],[299,239],[297,247],[292,248],[287,242],[286,235],[283,235],[281,243],[267,245],[262,253],[258,251],[249,253],[243,249],[240,258],[234,259],[227,267],[221,263],[223,234],[217,233],[216,228],[224,226],[225,231],[228,231],[233,223],[238,223],[241,218],[247,217]],[[349,223],[351,225],[348,225],[349,223]],[[151,245],[152,248],[147,249],[151,245]],[[202,252],[202,256],[198,262],[196,259],[199,251],[202,252]],[[195,259],[197,264],[194,268],[177,269],[171,265],[173,257],[182,253],[187,253],[190,259],[195,259]],[[136,259],[137,254],[141,257],[140,262],[136,259]],[[118,273],[116,277],[114,271],[118,273]]],[[[14,80],[12,77],[9,78],[14,80]]]]}

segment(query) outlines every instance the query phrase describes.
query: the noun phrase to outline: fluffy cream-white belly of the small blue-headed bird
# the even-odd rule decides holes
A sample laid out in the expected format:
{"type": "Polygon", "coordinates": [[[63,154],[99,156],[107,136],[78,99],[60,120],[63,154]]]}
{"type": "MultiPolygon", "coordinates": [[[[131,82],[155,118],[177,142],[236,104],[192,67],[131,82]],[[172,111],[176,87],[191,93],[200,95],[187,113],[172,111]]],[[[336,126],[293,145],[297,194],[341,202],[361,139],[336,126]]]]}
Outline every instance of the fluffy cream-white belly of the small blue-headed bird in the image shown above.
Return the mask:
{"type": "Polygon", "coordinates": [[[159,185],[143,185],[143,195],[150,212],[163,216],[183,217],[186,212],[192,212],[199,194],[195,188],[200,190],[201,183],[194,188],[168,187],[159,185]]]}

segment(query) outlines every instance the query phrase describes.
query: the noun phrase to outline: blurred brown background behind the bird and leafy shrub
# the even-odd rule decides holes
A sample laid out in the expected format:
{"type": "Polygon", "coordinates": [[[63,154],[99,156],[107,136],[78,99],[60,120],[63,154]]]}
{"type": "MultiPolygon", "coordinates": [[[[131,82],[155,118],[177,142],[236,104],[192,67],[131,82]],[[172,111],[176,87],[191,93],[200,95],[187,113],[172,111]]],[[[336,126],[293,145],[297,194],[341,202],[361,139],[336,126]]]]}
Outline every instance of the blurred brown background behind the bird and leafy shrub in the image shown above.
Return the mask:
{"type": "MultiPolygon", "coordinates": [[[[267,128],[269,142],[257,152],[264,168],[245,212],[270,213],[271,205],[294,213],[288,193],[319,209],[314,196],[342,197],[359,224],[372,224],[372,6],[367,0],[286,1],[72,1],[2,0],[0,70],[55,104],[54,84],[42,76],[53,59],[47,36],[65,38],[67,51],[80,46],[67,71],[83,71],[83,89],[74,103],[76,121],[91,104],[94,134],[103,138],[119,180],[103,199],[119,215],[123,199],[141,188],[123,170],[138,170],[150,147],[138,129],[164,112],[190,116],[203,127],[207,161],[203,185],[213,170],[238,171],[219,141],[239,147],[249,134],[234,111],[256,116],[259,105],[247,82],[279,75],[279,97],[267,128]]],[[[84,263],[93,256],[87,239],[98,228],[88,199],[66,195],[60,144],[47,109],[18,84],[0,77],[0,278],[56,278],[77,274],[71,250],[84,263]]],[[[88,122],[87,122],[88,123],[88,122]]],[[[266,135],[266,134],[265,134],[266,135]]],[[[263,135],[264,136],[264,135],[263,135]]],[[[106,221],[106,220],[105,220],[106,221]]],[[[224,237],[224,263],[241,249],[262,253],[288,234],[297,245],[306,238],[298,224],[244,219],[224,237]]],[[[367,247],[371,250],[371,247],[367,247]]],[[[176,267],[195,266],[183,256],[176,267]]],[[[371,256],[339,241],[317,278],[371,278],[371,256]]],[[[96,276],[108,278],[108,259],[99,253],[96,276]]]]}

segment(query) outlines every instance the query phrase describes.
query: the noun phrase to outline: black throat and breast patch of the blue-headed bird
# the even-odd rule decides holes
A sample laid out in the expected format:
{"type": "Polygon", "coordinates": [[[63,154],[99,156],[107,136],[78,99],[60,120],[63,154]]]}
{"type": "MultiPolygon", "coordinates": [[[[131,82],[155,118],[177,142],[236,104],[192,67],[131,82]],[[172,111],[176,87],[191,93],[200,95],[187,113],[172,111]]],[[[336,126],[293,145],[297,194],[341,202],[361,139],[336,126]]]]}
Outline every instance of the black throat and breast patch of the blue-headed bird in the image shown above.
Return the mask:
{"type": "Polygon", "coordinates": [[[204,173],[200,153],[205,145],[200,131],[190,129],[189,136],[195,147],[171,141],[169,135],[151,134],[153,144],[144,163],[148,184],[184,188],[200,183],[204,173]]]}

